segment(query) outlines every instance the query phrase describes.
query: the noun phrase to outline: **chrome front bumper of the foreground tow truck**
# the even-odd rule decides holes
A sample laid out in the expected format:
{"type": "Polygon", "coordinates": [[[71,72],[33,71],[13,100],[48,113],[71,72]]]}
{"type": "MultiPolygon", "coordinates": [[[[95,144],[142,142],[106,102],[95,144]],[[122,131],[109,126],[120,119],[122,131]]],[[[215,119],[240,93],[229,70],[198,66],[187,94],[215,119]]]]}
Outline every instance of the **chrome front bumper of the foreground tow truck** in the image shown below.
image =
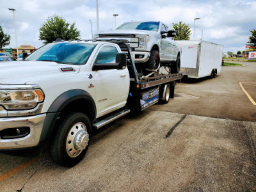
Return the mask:
{"type": "Polygon", "coordinates": [[[8,128],[29,127],[30,132],[24,138],[0,138],[0,149],[29,148],[38,145],[46,114],[35,116],[0,118],[0,131],[8,128]]]}

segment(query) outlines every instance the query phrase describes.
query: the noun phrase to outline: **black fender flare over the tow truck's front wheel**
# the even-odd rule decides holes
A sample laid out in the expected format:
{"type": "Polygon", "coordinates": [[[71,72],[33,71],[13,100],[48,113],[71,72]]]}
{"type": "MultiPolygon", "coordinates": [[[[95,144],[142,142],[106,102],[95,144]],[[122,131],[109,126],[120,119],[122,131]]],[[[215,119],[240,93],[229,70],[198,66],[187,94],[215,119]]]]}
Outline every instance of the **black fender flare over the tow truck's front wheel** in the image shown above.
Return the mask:
{"type": "Polygon", "coordinates": [[[93,122],[96,118],[97,109],[94,100],[90,93],[75,89],[75,90],[68,90],[67,92],[62,93],[59,95],[54,102],[52,102],[50,108],[48,109],[45,117],[44,126],[42,129],[42,133],[40,136],[39,145],[42,144],[45,140],[51,137],[51,133],[54,129],[54,125],[56,124],[57,119],[60,117],[61,111],[68,106],[73,101],[84,99],[90,102],[90,106],[92,106],[92,113],[90,113],[90,120],[93,122]]]}

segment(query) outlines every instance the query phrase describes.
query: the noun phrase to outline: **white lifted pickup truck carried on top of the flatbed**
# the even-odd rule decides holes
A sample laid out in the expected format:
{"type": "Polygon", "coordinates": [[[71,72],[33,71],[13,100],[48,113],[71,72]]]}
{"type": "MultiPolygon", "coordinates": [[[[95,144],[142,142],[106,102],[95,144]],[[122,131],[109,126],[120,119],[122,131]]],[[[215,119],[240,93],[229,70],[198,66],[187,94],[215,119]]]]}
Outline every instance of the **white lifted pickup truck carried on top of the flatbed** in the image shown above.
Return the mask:
{"type": "MultiPolygon", "coordinates": [[[[100,31],[94,38],[100,39],[125,39],[137,42],[138,46],[132,47],[133,59],[136,67],[143,74],[154,71],[159,63],[170,67],[172,74],[180,70],[181,49],[173,37],[175,29],[169,28],[160,21],[125,22],[115,30],[100,31]]],[[[122,49],[122,47],[121,47],[122,49]]]]}

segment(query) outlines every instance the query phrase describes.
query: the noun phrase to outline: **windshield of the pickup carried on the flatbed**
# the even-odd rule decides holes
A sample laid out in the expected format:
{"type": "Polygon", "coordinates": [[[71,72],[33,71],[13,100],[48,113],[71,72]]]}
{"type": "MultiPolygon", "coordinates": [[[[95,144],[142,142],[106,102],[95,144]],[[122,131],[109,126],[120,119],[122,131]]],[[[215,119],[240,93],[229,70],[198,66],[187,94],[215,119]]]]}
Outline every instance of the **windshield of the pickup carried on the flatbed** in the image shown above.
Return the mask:
{"type": "Polygon", "coordinates": [[[147,31],[158,31],[159,22],[125,22],[116,29],[137,29],[147,31]]]}

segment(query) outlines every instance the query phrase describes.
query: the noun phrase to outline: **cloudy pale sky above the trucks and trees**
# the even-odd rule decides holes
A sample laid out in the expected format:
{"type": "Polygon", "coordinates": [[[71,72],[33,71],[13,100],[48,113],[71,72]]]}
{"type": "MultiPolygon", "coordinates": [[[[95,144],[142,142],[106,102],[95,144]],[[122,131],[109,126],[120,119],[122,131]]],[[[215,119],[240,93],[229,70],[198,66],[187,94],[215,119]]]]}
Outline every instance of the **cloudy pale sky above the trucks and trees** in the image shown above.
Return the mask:
{"type": "MultiPolygon", "coordinates": [[[[38,48],[39,28],[47,17],[61,15],[67,22],[76,22],[81,38],[91,38],[90,21],[93,33],[97,32],[96,0],[0,0],[0,25],[4,33],[11,36],[11,44],[16,47],[13,12],[15,8],[18,45],[29,44],[38,48]]],[[[131,20],[162,21],[168,26],[179,21],[189,24],[193,38],[194,18],[195,37],[224,45],[224,52],[244,51],[250,30],[256,29],[256,0],[99,0],[99,29],[112,29],[113,13],[116,27],[131,20]]]]}

